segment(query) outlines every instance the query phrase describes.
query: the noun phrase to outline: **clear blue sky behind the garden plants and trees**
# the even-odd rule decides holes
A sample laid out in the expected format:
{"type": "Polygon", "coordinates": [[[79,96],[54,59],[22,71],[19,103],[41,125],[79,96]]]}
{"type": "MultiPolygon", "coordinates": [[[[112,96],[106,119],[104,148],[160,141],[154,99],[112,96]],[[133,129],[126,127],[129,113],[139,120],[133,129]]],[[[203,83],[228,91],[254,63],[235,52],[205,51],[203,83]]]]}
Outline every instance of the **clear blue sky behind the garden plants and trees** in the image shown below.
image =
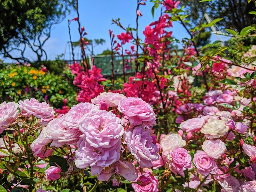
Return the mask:
{"type": "MultiPolygon", "coordinates": [[[[140,6],[142,17],[139,18],[139,37],[144,39],[143,31],[146,25],[150,22],[158,19],[160,15],[160,7],[155,10],[155,17],[152,17],[151,8],[153,3],[147,1],[146,5],[140,6]]],[[[103,50],[110,49],[110,37],[108,29],[111,29],[115,35],[123,32],[123,29],[112,25],[112,19],[120,18],[124,27],[136,27],[136,7],[137,0],[79,0],[79,14],[81,26],[85,27],[85,31],[88,33],[86,38],[88,39],[100,39],[106,40],[106,43],[94,48],[94,54],[99,54],[103,50]]],[[[65,60],[70,59],[70,51],[67,47],[67,42],[70,41],[67,20],[77,17],[76,11],[72,12],[63,22],[54,25],[51,30],[51,37],[44,45],[44,49],[47,52],[49,60],[54,60],[57,55],[65,54],[65,60]],[[67,49],[65,50],[65,48],[67,49]]],[[[184,28],[177,22],[173,22],[173,36],[177,39],[188,37],[188,34],[184,28]]],[[[76,22],[71,23],[71,36],[72,41],[79,40],[78,24],[76,22]]],[[[216,40],[216,36],[212,35],[212,40],[216,40]]],[[[75,50],[76,56],[79,53],[79,48],[75,50]]],[[[27,56],[33,60],[33,53],[27,51],[27,56]]],[[[0,56],[1,58],[1,56],[0,56]]],[[[9,63],[11,60],[4,59],[4,62],[9,63]]]]}

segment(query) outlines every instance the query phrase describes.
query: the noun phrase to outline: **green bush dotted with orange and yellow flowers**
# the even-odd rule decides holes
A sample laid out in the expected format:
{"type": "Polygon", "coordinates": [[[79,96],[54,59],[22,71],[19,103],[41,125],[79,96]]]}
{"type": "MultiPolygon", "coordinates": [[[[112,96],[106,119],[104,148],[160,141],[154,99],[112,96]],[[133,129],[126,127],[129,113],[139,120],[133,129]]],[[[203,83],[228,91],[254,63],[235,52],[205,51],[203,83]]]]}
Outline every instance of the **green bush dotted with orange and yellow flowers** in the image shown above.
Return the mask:
{"type": "Polygon", "coordinates": [[[65,74],[57,76],[33,67],[9,65],[1,70],[0,82],[1,102],[34,97],[40,102],[46,99],[56,108],[63,106],[64,98],[68,98],[70,107],[76,103],[72,79],[65,74]]]}

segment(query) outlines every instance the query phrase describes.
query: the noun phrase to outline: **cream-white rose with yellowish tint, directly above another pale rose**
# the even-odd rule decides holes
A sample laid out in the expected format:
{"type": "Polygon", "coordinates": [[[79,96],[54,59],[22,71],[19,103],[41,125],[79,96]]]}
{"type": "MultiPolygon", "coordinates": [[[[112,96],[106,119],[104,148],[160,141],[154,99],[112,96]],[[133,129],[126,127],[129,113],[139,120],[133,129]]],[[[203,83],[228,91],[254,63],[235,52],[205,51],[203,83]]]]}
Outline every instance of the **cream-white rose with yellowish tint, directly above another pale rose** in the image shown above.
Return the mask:
{"type": "Polygon", "coordinates": [[[201,129],[201,132],[210,139],[222,137],[228,131],[229,127],[225,124],[225,121],[214,118],[209,119],[201,129]]]}

